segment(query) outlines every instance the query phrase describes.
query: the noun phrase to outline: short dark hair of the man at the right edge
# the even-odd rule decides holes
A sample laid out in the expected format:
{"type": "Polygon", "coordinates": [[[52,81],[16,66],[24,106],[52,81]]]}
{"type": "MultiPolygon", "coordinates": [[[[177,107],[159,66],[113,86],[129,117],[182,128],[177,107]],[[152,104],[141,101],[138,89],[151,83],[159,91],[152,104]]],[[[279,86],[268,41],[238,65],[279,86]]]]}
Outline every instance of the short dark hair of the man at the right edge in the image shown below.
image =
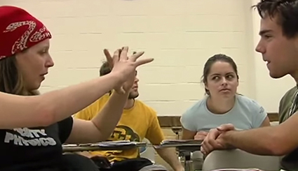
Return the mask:
{"type": "Polygon", "coordinates": [[[298,33],[298,0],[261,0],[257,5],[259,15],[264,17],[276,17],[283,35],[294,38],[298,33]]]}

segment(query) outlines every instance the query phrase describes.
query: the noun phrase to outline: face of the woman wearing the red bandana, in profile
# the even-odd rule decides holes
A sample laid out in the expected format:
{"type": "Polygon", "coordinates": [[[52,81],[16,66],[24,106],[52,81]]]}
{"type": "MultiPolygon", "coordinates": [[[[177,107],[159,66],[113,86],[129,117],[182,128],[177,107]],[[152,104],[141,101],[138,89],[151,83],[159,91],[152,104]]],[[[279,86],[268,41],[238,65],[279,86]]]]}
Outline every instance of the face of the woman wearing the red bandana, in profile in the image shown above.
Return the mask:
{"type": "Polygon", "coordinates": [[[48,74],[48,68],[54,66],[48,52],[49,48],[50,40],[46,39],[16,54],[18,68],[28,90],[39,89],[41,82],[45,80],[45,75],[48,74]]]}

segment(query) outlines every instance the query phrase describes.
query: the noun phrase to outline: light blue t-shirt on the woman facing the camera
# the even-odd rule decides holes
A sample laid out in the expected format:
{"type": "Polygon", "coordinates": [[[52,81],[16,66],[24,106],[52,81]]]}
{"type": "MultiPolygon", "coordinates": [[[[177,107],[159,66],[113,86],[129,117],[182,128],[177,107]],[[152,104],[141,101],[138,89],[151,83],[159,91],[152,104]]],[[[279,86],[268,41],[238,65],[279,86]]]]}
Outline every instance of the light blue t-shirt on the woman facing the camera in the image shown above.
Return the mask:
{"type": "Polygon", "coordinates": [[[236,95],[235,105],[225,114],[210,112],[207,99],[203,98],[182,114],[180,121],[184,128],[189,131],[209,131],[222,124],[233,124],[237,129],[246,130],[259,128],[267,117],[261,105],[242,95],[236,95]]]}

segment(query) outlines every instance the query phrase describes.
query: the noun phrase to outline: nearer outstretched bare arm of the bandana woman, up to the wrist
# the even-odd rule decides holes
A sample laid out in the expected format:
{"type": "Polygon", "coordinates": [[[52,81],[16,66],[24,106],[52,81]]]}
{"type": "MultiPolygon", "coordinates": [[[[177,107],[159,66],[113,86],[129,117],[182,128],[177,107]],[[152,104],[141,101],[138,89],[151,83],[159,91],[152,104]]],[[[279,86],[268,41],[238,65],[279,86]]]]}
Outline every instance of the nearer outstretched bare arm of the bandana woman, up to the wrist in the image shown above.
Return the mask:
{"type": "Polygon", "coordinates": [[[39,96],[0,93],[0,128],[48,126],[87,107],[119,84],[119,75],[110,73],[39,96]]]}

